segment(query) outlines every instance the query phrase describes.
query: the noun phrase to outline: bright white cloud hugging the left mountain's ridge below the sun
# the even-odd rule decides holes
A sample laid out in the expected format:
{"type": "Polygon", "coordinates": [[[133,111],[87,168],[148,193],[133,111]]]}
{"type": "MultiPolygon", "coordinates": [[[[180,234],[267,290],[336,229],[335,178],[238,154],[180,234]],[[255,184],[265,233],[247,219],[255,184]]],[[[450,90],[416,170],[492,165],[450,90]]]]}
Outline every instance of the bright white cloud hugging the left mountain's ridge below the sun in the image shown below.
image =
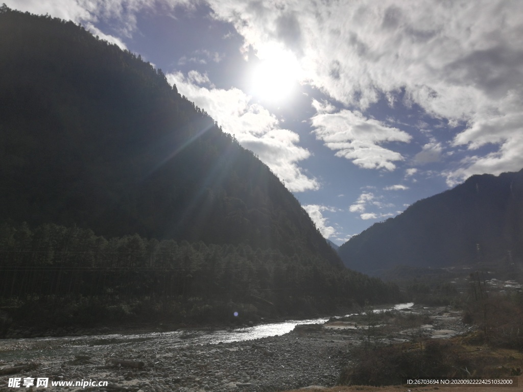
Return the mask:
{"type": "Polygon", "coordinates": [[[304,174],[298,166],[310,152],[298,145],[300,137],[279,128],[279,121],[267,109],[251,103],[251,98],[237,88],[229,90],[198,85],[210,83],[206,75],[196,71],[185,77],[181,73],[166,75],[180,94],[187,96],[218,121],[225,132],[233,134],[245,148],[253,151],[293,192],[316,190],[319,182],[304,174]]]}

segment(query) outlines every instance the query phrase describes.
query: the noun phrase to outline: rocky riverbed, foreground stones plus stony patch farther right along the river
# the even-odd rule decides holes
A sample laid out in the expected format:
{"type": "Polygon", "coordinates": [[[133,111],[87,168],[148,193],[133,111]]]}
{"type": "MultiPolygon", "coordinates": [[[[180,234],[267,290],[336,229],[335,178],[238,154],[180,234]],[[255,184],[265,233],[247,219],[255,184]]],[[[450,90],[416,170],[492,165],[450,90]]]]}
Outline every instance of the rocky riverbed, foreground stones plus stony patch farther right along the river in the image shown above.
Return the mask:
{"type": "MultiPolygon", "coordinates": [[[[430,324],[391,328],[383,342],[404,341],[415,334],[445,337],[468,330],[458,313],[445,308],[402,310],[425,314],[430,324]]],[[[0,375],[0,390],[10,388],[9,377],[49,377],[52,381],[106,381],[107,386],[62,386],[55,390],[99,391],[272,391],[309,385],[336,385],[350,352],[365,341],[365,329],[302,326],[282,336],[215,344],[173,344],[154,337],[89,336],[81,339],[0,340],[0,374],[25,365],[21,372],[0,375]]],[[[378,338],[377,338],[378,339],[378,338]]],[[[25,389],[25,388],[24,388],[25,389]]]]}

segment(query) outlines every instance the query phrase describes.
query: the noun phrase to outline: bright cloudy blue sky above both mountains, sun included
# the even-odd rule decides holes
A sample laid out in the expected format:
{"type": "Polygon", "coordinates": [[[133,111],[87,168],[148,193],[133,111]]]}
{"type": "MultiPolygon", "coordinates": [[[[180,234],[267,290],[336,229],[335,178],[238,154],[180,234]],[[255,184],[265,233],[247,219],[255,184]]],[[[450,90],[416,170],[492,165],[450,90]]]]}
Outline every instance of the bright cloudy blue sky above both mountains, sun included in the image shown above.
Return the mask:
{"type": "Polygon", "coordinates": [[[523,168],[520,0],[3,0],[161,68],[345,243],[523,168]]]}

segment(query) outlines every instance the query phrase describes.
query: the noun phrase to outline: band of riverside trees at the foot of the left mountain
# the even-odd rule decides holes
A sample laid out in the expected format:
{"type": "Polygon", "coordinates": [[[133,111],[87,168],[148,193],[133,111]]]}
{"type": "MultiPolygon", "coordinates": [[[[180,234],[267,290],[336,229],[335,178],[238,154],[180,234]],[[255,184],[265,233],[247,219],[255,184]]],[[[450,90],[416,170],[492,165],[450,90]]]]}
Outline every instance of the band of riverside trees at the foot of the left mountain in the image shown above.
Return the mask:
{"type": "Polygon", "coordinates": [[[4,222],[0,253],[0,305],[15,315],[28,307],[54,309],[53,317],[65,325],[92,323],[87,315],[94,314],[98,322],[223,322],[235,311],[244,321],[307,317],[401,299],[397,286],[334,267],[313,253],[248,245],[136,234],[107,239],[78,227],[4,222]]]}

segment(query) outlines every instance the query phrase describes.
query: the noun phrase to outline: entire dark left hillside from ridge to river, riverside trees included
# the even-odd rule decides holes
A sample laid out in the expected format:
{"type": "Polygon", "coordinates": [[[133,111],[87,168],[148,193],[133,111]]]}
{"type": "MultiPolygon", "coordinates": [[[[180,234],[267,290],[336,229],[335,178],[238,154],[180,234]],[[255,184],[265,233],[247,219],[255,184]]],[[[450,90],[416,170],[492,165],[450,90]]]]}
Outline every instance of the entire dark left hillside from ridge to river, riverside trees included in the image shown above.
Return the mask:
{"type": "Polygon", "coordinates": [[[0,203],[0,338],[401,299],[343,268],[271,170],[161,70],[5,6],[0,203]]]}

